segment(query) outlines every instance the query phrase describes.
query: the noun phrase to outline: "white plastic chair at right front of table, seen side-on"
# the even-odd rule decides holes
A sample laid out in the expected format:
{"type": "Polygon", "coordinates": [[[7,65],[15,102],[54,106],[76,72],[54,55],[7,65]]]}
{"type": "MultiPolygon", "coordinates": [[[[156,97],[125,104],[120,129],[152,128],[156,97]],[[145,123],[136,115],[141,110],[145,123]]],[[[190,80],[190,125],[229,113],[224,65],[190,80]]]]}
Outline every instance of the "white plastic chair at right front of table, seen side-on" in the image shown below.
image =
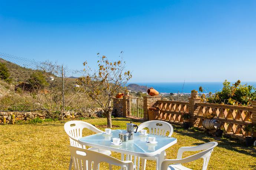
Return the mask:
{"type": "Polygon", "coordinates": [[[207,170],[207,166],[210,160],[211,153],[213,151],[213,148],[217,146],[217,142],[209,142],[205,144],[201,144],[199,146],[192,146],[192,147],[181,147],[178,150],[177,159],[166,159],[162,162],[161,170],[191,170],[185,166],[182,166],[182,163],[192,162],[197,159],[203,158],[203,168],[202,170],[207,170]],[[194,154],[192,156],[182,158],[182,154],[184,151],[201,151],[197,154],[194,154]],[[173,165],[170,165],[173,164],[173,165]]]}

